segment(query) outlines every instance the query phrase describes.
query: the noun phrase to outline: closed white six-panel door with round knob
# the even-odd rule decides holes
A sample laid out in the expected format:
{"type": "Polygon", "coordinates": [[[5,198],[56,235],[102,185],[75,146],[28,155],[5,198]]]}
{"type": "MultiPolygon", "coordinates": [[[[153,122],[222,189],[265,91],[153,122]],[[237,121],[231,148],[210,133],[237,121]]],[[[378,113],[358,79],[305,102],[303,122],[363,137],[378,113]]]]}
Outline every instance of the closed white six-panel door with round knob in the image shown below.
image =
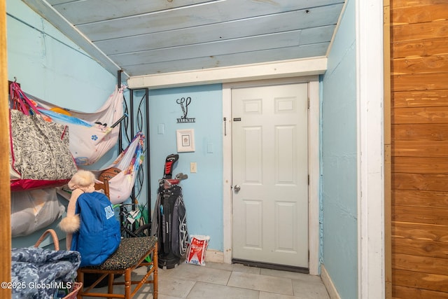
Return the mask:
{"type": "Polygon", "coordinates": [[[232,258],[308,268],[308,83],[232,89],[232,258]]]}

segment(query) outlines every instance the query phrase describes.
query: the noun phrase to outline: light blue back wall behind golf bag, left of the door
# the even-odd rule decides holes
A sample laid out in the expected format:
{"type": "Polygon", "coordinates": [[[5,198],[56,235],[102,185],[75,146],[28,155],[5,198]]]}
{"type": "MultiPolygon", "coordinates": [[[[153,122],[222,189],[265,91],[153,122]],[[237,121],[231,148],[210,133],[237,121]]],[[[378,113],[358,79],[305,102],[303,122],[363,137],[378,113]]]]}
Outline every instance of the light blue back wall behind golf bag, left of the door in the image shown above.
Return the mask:
{"type": "Polygon", "coordinates": [[[165,158],[177,153],[176,130],[194,129],[195,151],[179,153],[173,174],[188,174],[181,181],[190,235],[209,235],[209,249],[223,251],[223,96],[221,84],[150,90],[151,202],[157,196],[158,179],[164,174],[165,158]],[[188,118],[176,99],[190,97],[188,118]],[[190,173],[197,162],[197,173],[190,173]]]}

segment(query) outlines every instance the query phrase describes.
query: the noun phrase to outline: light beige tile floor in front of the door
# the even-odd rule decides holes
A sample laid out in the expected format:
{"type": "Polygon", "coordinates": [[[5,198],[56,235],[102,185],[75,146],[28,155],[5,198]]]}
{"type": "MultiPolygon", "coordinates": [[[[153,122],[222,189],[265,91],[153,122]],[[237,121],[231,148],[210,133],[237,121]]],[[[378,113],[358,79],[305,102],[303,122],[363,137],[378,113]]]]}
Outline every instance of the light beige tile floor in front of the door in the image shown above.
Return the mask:
{"type": "MultiPolygon", "coordinates": [[[[135,274],[141,276],[144,270],[137,269],[135,274]]],[[[209,262],[205,266],[198,266],[181,263],[174,269],[159,269],[158,281],[159,299],[330,298],[318,276],[241,264],[209,262]]],[[[98,290],[106,291],[106,288],[98,290]]],[[[134,298],[153,298],[152,285],[143,286],[134,298]]]]}

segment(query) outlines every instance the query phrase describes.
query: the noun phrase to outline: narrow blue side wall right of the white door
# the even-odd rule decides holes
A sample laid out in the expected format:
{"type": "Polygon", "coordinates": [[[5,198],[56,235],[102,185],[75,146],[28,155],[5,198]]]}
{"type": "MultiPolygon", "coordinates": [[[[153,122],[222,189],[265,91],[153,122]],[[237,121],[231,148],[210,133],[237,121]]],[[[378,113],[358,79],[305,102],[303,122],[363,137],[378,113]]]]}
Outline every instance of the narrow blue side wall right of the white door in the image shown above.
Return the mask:
{"type": "Polygon", "coordinates": [[[323,76],[321,261],[341,298],[358,297],[355,1],[349,0],[323,76]]]}

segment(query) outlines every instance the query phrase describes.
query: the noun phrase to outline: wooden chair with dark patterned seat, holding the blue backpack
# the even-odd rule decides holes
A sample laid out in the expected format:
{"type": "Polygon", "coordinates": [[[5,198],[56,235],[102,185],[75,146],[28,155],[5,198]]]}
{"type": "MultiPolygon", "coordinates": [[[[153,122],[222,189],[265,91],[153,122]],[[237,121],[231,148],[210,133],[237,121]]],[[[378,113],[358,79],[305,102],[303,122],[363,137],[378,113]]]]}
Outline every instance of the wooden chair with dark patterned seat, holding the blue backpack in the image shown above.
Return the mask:
{"type": "MultiPolygon", "coordinates": [[[[96,183],[95,188],[104,189],[109,197],[109,182],[96,183]]],[[[78,299],[83,296],[102,298],[132,298],[144,284],[153,284],[153,298],[158,298],[158,243],[156,237],[135,237],[121,240],[117,251],[98,266],[82,267],[78,269],[78,282],[84,282],[85,273],[99,274],[99,278],[91,286],[83,287],[78,291],[78,299]],[[147,257],[151,256],[151,261],[147,257]],[[132,272],[137,267],[146,267],[146,274],[139,281],[132,280],[132,272]],[[123,274],[125,281],[114,281],[115,274],[123,274]],[[153,279],[149,277],[153,274],[153,279]],[[100,281],[108,277],[108,293],[98,293],[93,290],[100,281]],[[125,285],[124,294],[113,293],[113,286],[125,285]],[[132,289],[132,285],[136,285],[132,289]]]]}

